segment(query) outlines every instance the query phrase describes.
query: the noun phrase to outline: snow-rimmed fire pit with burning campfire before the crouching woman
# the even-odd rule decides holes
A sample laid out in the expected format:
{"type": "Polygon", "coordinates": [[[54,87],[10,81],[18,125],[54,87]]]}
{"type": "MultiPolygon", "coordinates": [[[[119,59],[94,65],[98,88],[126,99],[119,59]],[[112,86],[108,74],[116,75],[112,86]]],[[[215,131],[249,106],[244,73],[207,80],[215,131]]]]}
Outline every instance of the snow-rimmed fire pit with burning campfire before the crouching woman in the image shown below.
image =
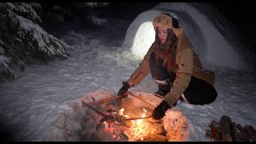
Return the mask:
{"type": "Polygon", "coordinates": [[[189,126],[179,110],[167,110],[161,120],[151,118],[162,102],[153,94],[130,91],[114,98],[98,90],[78,102],[61,106],[52,126],[52,141],[187,141],[189,126]],[[94,104],[96,102],[96,104],[94,104]]]}

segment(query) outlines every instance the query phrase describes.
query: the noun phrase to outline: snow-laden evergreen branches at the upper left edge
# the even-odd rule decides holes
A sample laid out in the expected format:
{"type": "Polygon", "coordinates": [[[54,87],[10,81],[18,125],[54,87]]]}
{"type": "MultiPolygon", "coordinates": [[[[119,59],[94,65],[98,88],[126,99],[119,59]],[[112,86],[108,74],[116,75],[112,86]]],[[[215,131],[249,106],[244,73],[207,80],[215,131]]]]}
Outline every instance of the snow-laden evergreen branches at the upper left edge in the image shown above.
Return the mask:
{"type": "Polygon", "coordinates": [[[65,42],[48,34],[38,23],[42,20],[37,12],[41,10],[38,3],[0,3],[0,58],[1,78],[10,72],[11,65],[47,63],[54,58],[67,58],[65,42]],[[37,23],[38,22],[38,23],[37,23]]]}

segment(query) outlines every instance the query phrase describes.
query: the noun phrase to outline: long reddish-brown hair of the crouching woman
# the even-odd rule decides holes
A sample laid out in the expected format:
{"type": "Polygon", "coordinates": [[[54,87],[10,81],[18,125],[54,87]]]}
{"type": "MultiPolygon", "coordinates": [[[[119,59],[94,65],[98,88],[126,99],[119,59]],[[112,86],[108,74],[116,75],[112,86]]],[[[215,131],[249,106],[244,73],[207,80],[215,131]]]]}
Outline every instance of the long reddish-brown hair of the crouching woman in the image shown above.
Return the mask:
{"type": "MultiPolygon", "coordinates": [[[[173,18],[173,17],[172,17],[173,18]]],[[[178,19],[173,18],[173,26],[174,28],[178,28],[178,19]]],[[[174,66],[176,53],[177,53],[177,42],[178,38],[174,34],[174,31],[171,29],[167,29],[167,38],[165,44],[162,44],[158,38],[158,28],[156,29],[155,41],[157,44],[156,53],[156,61],[158,62],[159,56],[162,55],[163,58],[163,66],[166,66],[167,70],[170,71],[171,67],[174,66]],[[161,45],[166,46],[163,50],[160,49],[161,45]]]]}

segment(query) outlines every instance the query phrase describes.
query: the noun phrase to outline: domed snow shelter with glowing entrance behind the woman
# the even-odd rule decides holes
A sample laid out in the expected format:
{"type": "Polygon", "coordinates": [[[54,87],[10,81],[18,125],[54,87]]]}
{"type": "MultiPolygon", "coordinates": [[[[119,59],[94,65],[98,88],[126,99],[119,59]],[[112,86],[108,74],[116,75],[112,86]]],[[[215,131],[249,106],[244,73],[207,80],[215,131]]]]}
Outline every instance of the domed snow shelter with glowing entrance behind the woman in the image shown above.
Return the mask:
{"type": "Polygon", "coordinates": [[[250,53],[246,45],[240,41],[239,35],[236,37],[232,33],[230,26],[218,24],[227,25],[228,22],[223,21],[228,20],[220,18],[220,22],[216,22],[219,17],[215,18],[215,15],[222,14],[212,10],[214,7],[210,6],[199,10],[201,5],[180,2],[160,3],[153,9],[138,14],[126,30],[122,47],[142,59],[154,42],[155,32],[152,24],[154,17],[161,13],[169,13],[178,18],[179,26],[185,30],[203,65],[214,64],[234,70],[253,71],[255,55],[250,53]],[[232,38],[226,36],[229,34],[232,38]]]}

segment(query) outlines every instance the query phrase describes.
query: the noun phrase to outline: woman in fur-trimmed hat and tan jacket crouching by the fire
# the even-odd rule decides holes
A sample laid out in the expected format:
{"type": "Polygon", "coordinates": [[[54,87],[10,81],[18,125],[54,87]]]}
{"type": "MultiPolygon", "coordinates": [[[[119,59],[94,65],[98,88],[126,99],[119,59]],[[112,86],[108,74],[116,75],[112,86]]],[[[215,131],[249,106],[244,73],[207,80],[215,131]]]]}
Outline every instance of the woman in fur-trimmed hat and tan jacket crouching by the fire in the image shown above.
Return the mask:
{"type": "Polygon", "coordinates": [[[168,14],[160,14],[154,18],[153,25],[155,41],[137,70],[123,82],[118,95],[126,94],[150,71],[158,83],[155,94],[164,97],[152,113],[155,119],[162,118],[179,99],[195,105],[214,102],[218,95],[213,86],[215,75],[210,70],[202,70],[189,39],[178,28],[178,20],[168,14]]]}

